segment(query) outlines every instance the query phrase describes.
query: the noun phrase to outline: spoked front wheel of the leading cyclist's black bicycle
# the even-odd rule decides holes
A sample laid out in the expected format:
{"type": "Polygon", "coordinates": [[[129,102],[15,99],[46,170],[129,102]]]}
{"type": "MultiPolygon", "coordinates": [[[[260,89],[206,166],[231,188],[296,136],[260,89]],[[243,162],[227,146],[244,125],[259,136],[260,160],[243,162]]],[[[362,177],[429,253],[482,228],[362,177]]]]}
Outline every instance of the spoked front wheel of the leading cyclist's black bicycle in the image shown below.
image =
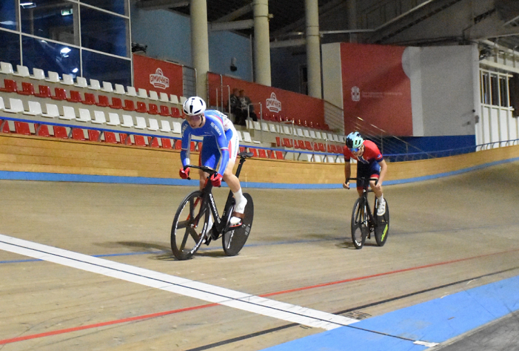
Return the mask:
{"type": "Polygon", "coordinates": [[[210,210],[194,191],[181,202],[171,227],[171,249],[178,260],[188,260],[199,249],[205,237],[210,210]]]}

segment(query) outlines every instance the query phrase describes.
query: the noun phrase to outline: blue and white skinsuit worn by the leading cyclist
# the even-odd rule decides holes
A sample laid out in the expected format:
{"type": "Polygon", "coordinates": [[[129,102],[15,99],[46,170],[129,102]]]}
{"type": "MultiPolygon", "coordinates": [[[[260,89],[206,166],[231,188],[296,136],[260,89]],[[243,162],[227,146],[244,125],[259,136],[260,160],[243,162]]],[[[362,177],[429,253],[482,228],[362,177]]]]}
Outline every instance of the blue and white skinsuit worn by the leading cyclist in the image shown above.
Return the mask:
{"type": "Polygon", "coordinates": [[[220,111],[210,109],[204,111],[203,114],[206,116],[206,123],[203,127],[192,128],[187,120],[182,123],[182,151],[180,153],[182,165],[190,164],[191,136],[203,136],[201,165],[215,169],[221,159],[218,173],[224,174],[230,156],[236,157],[237,154],[238,143],[235,127],[220,111]]]}

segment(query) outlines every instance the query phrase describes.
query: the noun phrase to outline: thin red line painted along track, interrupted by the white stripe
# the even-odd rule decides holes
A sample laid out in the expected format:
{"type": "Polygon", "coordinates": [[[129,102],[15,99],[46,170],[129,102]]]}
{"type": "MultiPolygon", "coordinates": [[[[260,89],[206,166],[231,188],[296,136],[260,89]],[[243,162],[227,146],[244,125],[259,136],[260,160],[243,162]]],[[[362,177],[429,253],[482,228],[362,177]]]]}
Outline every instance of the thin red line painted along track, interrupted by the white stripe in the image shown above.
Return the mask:
{"type": "MultiPolygon", "coordinates": [[[[513,249],[513,250],[508,250],[508,251],[501,251],[501,252],[496,252],[496,253],[486,253],[484,255],[477,255],[477,256],[473,256],[473,257],[469,257],[469,258],[459,258],[457,260],[450,260],[450,261],[445,261],[445,262],[437,262],[437,263],[425,264],[423,266],[411,267],[411,268],[406,268],[406,269],[397,269],[396,271],[388,271],[388,272],[383,272],[383,273],[376,273],[376,274],[372,274],[370,276],[362,276],[362,277],[350,278],[350,279],[345,279],[345,280],[337,280],[336,282],[325,282],[325,283],[318,284],[318,285],[309,285],[307,287],[299,287],[299,288],[295,288],[295,289],[289,289],[289,290],[283,290],[283,291],[275,291],[275,292],[272,292],[272,293],[262,294],[262,295],[259,295],[259,296],[260,297],[268,297],[268,296],[275,296],[275,295],[281,295],[281,294],[289,294],[289,293],[292,293],[292,292],[295,292],[295,291],[303,291],[303,290],[308,290],[308,289],[315,289],[315,288],[318,288],[318,287],[327,287],[329,285],[342,284],[342,283],[345,283],[345,282],[354,282],[356,280],[365,280],[365,279],[369,279],[369,278],[376,278],[376,277],[381,277],[381,276],[389,276],[390,274],[402,273],[402,272],[407,272],[407,271],[416,271],[417,269],[424,269],[424,268],[442,266],[444,264],[451,264],[451,263],[463,262],[463,261],[468,261],[468,260],[475,260],[477,258],[484,258],[484,257],[492,256],[492,255],[500,255],[500,254],[511,253],[511,252],[516,252],[516,251],[519,251],[519,249],[513,249]]],[[[199,305],[199,306],[194,306],[194,307],[186,307],[186,308],[181,308],[181,309],[173,309],[172,311],[158,312],[158,313],[154,313],[154,314],[145,314],[143,316],[135,316],[135,317],[130,317],[130,318],[122,318],[122,319],[118,319],[118,320],[115,320],[115,321],[108,321],[108,322],[103,322],[103,323],[83,325],[81,327],[73,327],[73,328],[68,328],[68,329],[55,330],[53,332],[46,332],[46,333],[40,333],[40,334],[19,336],[17,338],[0,340],[0,345],[5,345],[6,343],[16,343],[18,341],[25,341],[25,340],[30,340],[30,339],[38,339],[38,338],[43,338],[45,336],[65,334],[65,333],[69,333],[69,332],[78,332],[79,330],[92,329],[92,328],[96,328],[96,327],[106,327],[107,325],[115,325],[115,324],[128,323],[128,322],[134,322],[134,321],[143,321],[143,320],[149,319],[149,318],[156,318],[156,317],[161,317],[161,316],[167,316],[168,314],[176,314],[176,313],[181,313],[181,312],[188,312],[188,311],[193,311],[194,309],[215,307],[217,305],[219,305],[219,304],[217,304],[217,303],[209,303],[209,304],[206,304],[206,305],[199,305]]]]}

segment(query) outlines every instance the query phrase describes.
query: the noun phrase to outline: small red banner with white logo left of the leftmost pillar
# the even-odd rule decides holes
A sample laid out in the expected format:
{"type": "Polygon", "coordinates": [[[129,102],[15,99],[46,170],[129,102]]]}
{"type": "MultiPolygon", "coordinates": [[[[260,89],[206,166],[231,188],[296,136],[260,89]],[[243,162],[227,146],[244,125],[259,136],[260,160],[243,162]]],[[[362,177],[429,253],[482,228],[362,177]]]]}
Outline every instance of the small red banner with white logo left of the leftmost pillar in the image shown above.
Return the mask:
{"type": "Polygon", "coordinates": [[[134,87],[183,96],[182,66],[134,54],[134,87]]]}

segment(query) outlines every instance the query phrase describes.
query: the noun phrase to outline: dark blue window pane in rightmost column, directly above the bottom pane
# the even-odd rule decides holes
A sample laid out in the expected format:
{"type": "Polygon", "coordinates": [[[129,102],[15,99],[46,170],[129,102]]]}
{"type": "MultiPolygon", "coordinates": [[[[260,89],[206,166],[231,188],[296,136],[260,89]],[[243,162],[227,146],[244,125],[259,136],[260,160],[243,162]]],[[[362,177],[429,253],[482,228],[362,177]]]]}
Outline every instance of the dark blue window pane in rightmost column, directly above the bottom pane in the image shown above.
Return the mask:
{"type": "Polygon", "coordinates": [[[81,7],[81,45],[84,48],[129,57],[128,19],[81,7]]]}

